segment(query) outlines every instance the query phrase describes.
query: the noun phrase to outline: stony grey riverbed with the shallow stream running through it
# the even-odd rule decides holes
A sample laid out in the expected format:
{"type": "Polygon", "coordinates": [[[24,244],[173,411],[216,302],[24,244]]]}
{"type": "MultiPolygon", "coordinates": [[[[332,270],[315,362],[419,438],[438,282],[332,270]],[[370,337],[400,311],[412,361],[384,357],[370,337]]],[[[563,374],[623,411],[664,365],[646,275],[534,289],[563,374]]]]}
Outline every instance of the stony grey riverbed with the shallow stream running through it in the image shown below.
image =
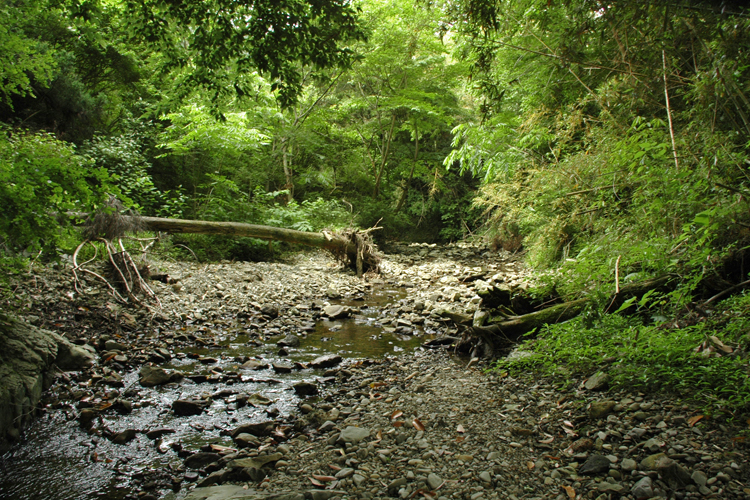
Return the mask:
{"type": "MultiPolygon", "coordinates": [[[[320,253],[154,262],[152,311],[88,278],[80,293],[57,271],[19,280],[28,321],[94,361],[58,377],[35,431],[67,423],[81,467],[101,469],[57,498],[750,498],[741,427],[594,374],[513,379],[420,347],[460,335],[452,315],[481,287],[529,275],[487,248],[396,250],[365,280],[320,253]]],[[[33,470],[31,446],[3,457],[6,478],[33,470]]],[[[40,497],[3,481],[0,498],[40,497]]]]}

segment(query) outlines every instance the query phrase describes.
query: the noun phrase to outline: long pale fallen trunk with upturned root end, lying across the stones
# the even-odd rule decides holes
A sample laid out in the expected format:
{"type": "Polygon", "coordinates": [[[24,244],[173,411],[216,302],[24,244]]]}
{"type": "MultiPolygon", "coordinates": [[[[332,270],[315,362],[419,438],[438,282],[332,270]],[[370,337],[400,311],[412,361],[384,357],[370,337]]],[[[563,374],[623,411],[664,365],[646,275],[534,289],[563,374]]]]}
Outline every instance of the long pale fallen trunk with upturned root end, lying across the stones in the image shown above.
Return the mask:
{"type": "Polygon", "coordinates": [[[352,269],[356,269],[360,276],[363,272],[377,271],[379,264],[379,259],[375,255],[372,245],[368,242],[366,231],[350,231],[340,234],[327,231],[308,233],[294,229],[243,224],[241,222],[213,222],[161,217],[138,217],[138,223],[140,227],[150,231],[249,237],[325,248],[336,255],[338,259],[345,261],[352,269]]]}

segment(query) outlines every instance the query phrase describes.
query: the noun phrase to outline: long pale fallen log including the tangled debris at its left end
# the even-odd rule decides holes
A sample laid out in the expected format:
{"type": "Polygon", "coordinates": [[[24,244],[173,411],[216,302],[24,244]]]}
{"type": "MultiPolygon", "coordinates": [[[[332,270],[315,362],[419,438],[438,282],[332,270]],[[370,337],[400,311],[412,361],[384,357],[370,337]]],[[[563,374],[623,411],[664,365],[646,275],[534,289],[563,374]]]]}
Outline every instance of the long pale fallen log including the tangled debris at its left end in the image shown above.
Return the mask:
{"type": "MultiPolygon", "coordinates": [[[[82,214],[73,215],[80,217],[82,214]]],[[[367,271],[377,272],[380,263],[380,259],[375,255],[374,247],[369,239],[369,232],[379,228],[371,228],[364,231],[348,230],[342,232],[323,231],[320,233],[310,233],[295,229],[244,224],[241,222],[167,219],[163,217],[142,217],[104,212],[94,214],[84,224],[90,228],[94,228],[93,230],[89,230],[89,238],[101,231],[108,233],[114,227],[136,228],[139,231],[148,230],[170,234],[191,233],[248,237],[324,248],[333,253],[337,259],[355,269],[358,276],[367,271]]],[[[111,240],[117,236],[120,235],[105,234],[104,238],[111,240]]]]}

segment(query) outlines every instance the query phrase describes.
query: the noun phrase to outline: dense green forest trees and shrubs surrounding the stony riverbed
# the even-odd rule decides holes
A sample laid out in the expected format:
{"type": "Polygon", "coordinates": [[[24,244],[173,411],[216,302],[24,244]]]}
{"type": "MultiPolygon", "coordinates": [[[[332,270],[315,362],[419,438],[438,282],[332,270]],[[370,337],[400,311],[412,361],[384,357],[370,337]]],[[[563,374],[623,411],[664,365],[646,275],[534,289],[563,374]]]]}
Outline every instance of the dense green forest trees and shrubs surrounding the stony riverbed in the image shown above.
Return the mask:
{"type": "MultiPolygon", "coordinates": [[[[554,354],[585,371],[614,356],[630,360],[621,383],[695,385],[686,374],[703,373],[747,405],[738,353],[750,302],[706,301],[748,273],[750,12],[697,1],[247,5],[0,6],[6,256],[69,252],[78,236],[51,214],[110,195],[146,215],[479,235],[525,252],[540,270],[535,293],[602,297],[516,368],[554,354]],[[665,273],[676,287],[628,303],[628,317],[600,317],[615,286],[665,273]],[[694,352],[710,335],[731,354],[715,342],[694,352]]],[[[266,251],[189,243],[201,258],[266,251]]]]}

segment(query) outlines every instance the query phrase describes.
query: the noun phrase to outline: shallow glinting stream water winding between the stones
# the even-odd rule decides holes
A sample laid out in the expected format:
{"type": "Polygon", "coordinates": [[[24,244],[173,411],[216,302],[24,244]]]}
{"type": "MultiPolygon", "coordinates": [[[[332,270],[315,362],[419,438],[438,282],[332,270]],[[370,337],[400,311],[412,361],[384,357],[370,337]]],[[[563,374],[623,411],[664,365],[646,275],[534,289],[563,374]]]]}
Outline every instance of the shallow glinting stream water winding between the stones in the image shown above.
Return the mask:
{"type": "MultiPolygon", "coordinates": [[[[403,289],[382,287],[364,300],[331,301],[356,307],[358,312],[351,318],[321,320],[311,325],[299,347],[287,348],[288,355],[279,354],[278,337],[258,342],[242,333],[228,333],[229,329],[215,332],[214,346],[176,349],[169,364],[162,365],[199,377],[203,374],[207,379],[203,383],[185,378],[179,384],[144,388],[138,383],[137,370],[126,374],[123,388],[107,390],[118,391],[133,401],[133,411],[126,415],[108,411],[103,421],[105,428],[114,433],[139,431],[135,439],[124,445],[83,430],[76,418],[76,401],[64,401],[55,409],[48,409],[26,430],[23,442],[0,457],[0,499],[134,498],[134,480],[141,483],[139,489],[153,488],[159,498],[181,498],[184,494],[179,491],[164,495],[168,491],[165,484],[178,484],[185,477],[181,450],[184,455],[185,451],[210,445],[232,447],[226,431],[240,424],[283,418],[296,411],[300,398],[291,387],[294,383],[325,383],[322,370],[276,373],[269,367],[250,371],[241,369],[238,360],[251,357],[269,365],[293,364],[307,363],[325,354],[379,358],[413,350],[433,338],[434,332],[420,328],[416,335],[400,335],[379,322],[383,306],[404,295],[403,289]],[[204,362],[213,358],[216,362],[202,364],[198,358],[204,362]],[[212,396],[212,403],[201,415],[177,417],[170,410],[176,399],[206,395],[212,396]],[[245,398],[247,402],[243,401],[245,398]],[[144,434],[158,428],[174,432],[155,441],[144,434]],[[151,478],[157,478],[154,484],[148,484],[151,478]]],[[[86,387],[90,381],[82,379],[77,383],[86,387]]]]}

